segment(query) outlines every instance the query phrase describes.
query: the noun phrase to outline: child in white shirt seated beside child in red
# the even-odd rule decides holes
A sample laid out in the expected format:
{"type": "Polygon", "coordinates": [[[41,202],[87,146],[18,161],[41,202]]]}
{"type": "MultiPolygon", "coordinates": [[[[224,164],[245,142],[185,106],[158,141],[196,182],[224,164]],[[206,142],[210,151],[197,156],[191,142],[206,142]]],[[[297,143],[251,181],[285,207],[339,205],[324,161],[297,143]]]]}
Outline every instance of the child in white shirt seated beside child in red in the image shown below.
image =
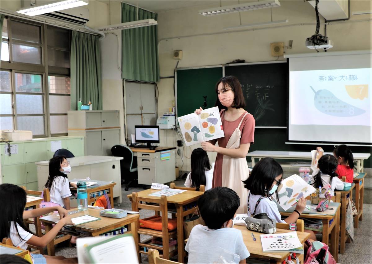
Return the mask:
{"type": "Polygon", "coordinates": [[[332,155],[323,155],[318,161],[318,168],[310,176],[310,184],[315,188],[319,186],[331,186],[330,194],[334,196],[334,190],[344,189],[344,184],[336,173],[337,160],[332,155]]]}

